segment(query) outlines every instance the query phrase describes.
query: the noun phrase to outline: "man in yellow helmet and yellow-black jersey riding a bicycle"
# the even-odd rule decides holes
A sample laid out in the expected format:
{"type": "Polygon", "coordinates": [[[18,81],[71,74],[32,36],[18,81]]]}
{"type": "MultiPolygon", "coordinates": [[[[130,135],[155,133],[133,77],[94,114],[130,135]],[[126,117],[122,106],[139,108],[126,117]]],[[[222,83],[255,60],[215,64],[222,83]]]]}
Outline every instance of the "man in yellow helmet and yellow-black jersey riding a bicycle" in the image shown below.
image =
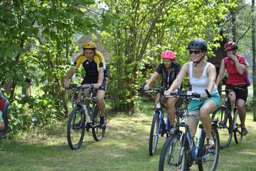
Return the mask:
{"type": "Polygon", "coordinates": [[[64,87],[69,87],[69,79],[74,75],[75,70],[82,67],[85,70],[85,77],[81,84],[92,84],[97,89],[97,104],[100,109],[100,127],[105,128],[105,91],[107,88],[107,70],[105,59],[99,51],[96,50],[95,43],[85,41],[82,45],[83,53],[78,55],[73,67],[68,71],[63,84],[64,87]]]}

